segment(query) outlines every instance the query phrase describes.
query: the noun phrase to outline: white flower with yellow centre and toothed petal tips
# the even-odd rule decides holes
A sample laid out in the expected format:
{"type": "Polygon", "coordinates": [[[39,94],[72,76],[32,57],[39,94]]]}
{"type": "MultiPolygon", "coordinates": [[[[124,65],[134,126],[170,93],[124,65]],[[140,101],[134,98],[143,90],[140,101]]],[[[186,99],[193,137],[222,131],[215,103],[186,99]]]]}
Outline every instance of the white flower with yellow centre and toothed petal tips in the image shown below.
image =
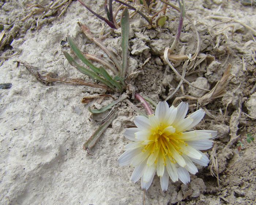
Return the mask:
{"type": "Polygon", "coordinates": [[[135,167],[131,180],[141,178],[142,189],[148,189],[155,172],[160,176],[161,188],[168,189],[169,176],[173,182],[180,179],[184,184],[190,182],[189,172],[196,174],[195,164],[207,166],[209,159],[200,150],[212,147],[212,137],[217,132],[196,130],[184,132],[197,125],[204,117],[202,109],[185,118],[187,103],[169,108],[167,102],[159,102],[155,115],[148,118],[136,116],[137,128],[128,128],[124,136],[132,143],[124,147],[125,152],[119,157],[121,166],[130,164],[135,167]]]}

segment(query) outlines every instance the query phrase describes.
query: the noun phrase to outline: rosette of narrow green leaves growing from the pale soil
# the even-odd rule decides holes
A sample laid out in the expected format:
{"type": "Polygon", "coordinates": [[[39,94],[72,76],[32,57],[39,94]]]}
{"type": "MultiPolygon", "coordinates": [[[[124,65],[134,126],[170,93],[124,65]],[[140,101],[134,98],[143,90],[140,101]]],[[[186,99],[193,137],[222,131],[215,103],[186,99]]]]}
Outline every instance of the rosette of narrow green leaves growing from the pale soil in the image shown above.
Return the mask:
{"type": "MultiPolygon", "coordinates": [[[[96,45],[98,45],[110,58],[110,60],[113,62],[113,64],[109,64],[106,62],[106,60],[102,58],[91,58],[92,56],[84,56],[84,54],[79,50],[79,48],[76,46],[73,39],[68,36],[68,42],[70,45],[71,50],[75,53],[75,55],[88,67],[84,67],[80,65],[78,62],[74,60],[74,58],[66,51],[64,51],[64,56],[67,58],[69,64],[71,64],[73,67],[78,69],[78,71],[82,72],[84,75],[89,76],[93,81],[99,82],[101,84],[105,85],[105,90],[109,91],[110,93],[116,93],[119,94],[119,98],[117,100],[114,100],[109,105],[102,107],[101,109],[92,109],[89,107],[89,111],[93,114],[99,114],[103,113],[107,110],[110,110],[108,113],[106,119],[103,121],[103,123],[96,129],[96,131],[89,137],[89,139],[83,144],[83,148],[87,150],[88,153],[89,149],[94,146],[97,139],[101,136],[101,134],[104,132],[104,130],[112,123],[112,121],[116,118],[117,112],[115,110],[115,106],[117,103],[126,100],[127,104],[133,109],[135,109],[138,113],[141,113],[144,115],[136,106],[133,106],[133,104],[127,99],[128,95],[124,92],[127,90],[130,90],[132,93],[132,99],[135,97],[140,100],[140,102],[143,103],[143,106],[146,108],[147,112],[149,114],[152,114],[150,106],[147,104],[146,100],[140,96],[138,93],[135,92],[135,88],[133,86],[128,86],[126,83],[126,79],[129,76],[130,73],[127,73],[127,67],[128,67],[128,40],[129,40],[129,12],[128,9],[125,7],[123,10],[123,13],[121,15],[121,48],[122,48],[122,61],[118,61],[116,56],[112,53],[111,50],[109,50],[100,39],[97,39],[93,36],[93,34],[90,32],[89,28],[84,26],[83,24],[80,24],[78,22],[78,25],[84,32],[84,34],[96,45]],[[90,62],[90,59],[96,60],[99,63],[102,64],[102,66],[96,67],[90,62]],[[105,66],[105,68],[103,67],[105,66]],[[112,73],[114,76],[112,76],[112,73]]],[[[100,86],[100,84],[98,84],[100,86]]],[[[102,85],[101,85],[102,86],[102,85]]],[[[102,87],[101,87],[102,88],[102,87]]],[[[91,99],[94,99],[93,96],[91,99]]],[[[154,102],[152,102],[149,98],[146,98],[149,102],[151,102],[153,105],[155,105],[154,102]]],[[[88,99],[89,100],[89,99],[88,99]]],[[[146,115],[145,115],[146,116],[146,115]]]]}

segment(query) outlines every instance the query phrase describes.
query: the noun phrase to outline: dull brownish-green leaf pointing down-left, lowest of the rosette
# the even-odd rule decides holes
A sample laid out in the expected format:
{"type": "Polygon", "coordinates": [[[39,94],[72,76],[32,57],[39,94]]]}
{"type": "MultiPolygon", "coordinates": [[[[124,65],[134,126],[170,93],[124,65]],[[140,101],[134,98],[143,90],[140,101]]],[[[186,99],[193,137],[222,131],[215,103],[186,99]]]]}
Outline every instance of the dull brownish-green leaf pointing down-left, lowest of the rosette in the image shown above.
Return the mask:
{"type": "Polygon", "coordinates": [[[95,130],[91,137],[83,144],[83,149],[90,149],[95,145],[98,138],[116,118],[116,115],[116,112],[110,115],[109,118],[102,125],[100,125],[97,130],[95,130]]]}

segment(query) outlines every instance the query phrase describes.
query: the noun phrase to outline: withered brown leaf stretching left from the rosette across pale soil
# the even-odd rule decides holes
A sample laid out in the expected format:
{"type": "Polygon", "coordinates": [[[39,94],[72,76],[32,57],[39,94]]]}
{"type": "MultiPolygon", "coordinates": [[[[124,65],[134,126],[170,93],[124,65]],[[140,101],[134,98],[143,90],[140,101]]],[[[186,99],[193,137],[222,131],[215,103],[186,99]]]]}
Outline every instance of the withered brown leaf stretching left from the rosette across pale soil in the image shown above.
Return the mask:
{"type": "Polygon", "coordinates": [[[67,78],[67,77],[54,78],[54,77],[50,77],[50,74],[41,75],[35,67],[28,64],[27,62],[21,62],[21,61],[18,61],[18,62],[23,64],[29,70],[30,73],[32,73],[39,81],[41,81],[44,84],[48,84],[50,82],[61,81],[64,83],[72,83],[75,85],[84,85],[84,86],[90,86],[90,87],[94,87],[94,88],[101,88],[101,89],[104,89],[104,90],[107,90],[110,92],[112,91],[107,86],[99,85],[97,83],[90,83],[83,79],[73,79],[73,78],[67,78]]]}

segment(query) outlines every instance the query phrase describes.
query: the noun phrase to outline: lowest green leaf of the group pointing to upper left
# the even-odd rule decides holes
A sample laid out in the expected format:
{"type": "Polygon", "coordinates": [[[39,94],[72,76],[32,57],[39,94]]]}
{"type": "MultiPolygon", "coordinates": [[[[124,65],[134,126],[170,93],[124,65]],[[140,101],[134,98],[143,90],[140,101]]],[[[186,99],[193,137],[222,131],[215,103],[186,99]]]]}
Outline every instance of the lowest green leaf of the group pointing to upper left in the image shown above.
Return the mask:
{"type": "Polygon", "coordinates": [[[109,83],[108,81],[106,81],[105,79],[103,79],[102,77],[99,77],[96,73],[89,71],[88,69],[82,67],[81,65],[79,65],[74,58],[72,58],[68,52],[63,51],[64,56],[67,58],[68,62],[70,65],[74,66],[76,69],[78,69],[78,71],[80,71],[81,73],[83,73],[84,75],[87,75],[89,77],[91,77],[91,79],[96,79],[98,81],[100,81],[101,83],[105,84],[106,86],[110,87],[111,89],[115,90],[115,88],[112,86],[111,83],[109,83]]]}

